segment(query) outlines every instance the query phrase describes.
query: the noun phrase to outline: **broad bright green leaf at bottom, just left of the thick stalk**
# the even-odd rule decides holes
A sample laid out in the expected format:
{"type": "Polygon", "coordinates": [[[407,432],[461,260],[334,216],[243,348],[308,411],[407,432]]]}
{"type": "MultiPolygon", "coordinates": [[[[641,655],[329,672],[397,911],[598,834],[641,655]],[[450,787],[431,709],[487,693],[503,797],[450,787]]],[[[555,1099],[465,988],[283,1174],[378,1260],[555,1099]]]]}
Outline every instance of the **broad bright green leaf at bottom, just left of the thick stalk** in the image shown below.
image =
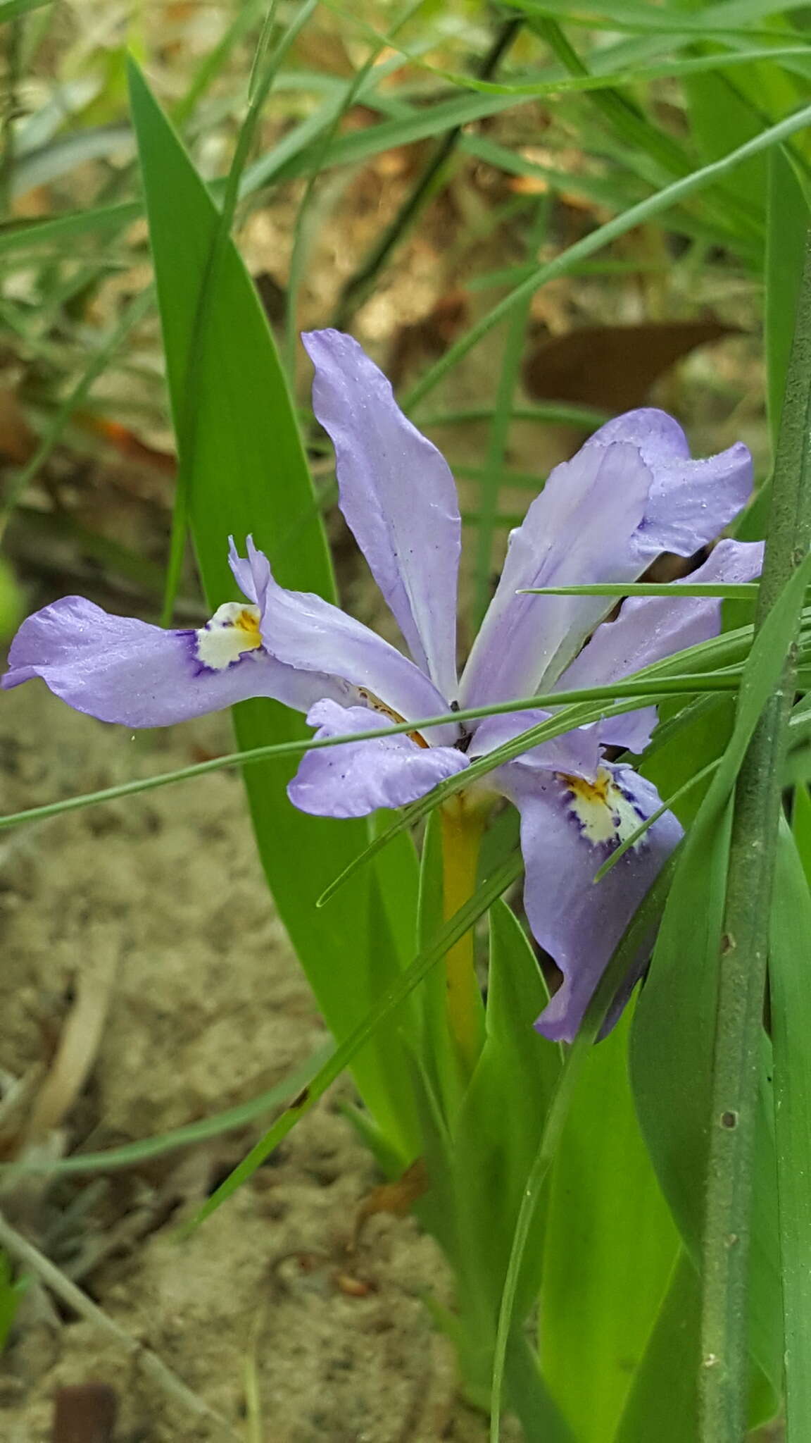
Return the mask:
{"type": "Polygon", "coordinates": [[[550,1176],[541,1368],[579,1443],[613,1439],[680,1251],[634,1108],[629,1022],[589,1052],[550,1176]]]}

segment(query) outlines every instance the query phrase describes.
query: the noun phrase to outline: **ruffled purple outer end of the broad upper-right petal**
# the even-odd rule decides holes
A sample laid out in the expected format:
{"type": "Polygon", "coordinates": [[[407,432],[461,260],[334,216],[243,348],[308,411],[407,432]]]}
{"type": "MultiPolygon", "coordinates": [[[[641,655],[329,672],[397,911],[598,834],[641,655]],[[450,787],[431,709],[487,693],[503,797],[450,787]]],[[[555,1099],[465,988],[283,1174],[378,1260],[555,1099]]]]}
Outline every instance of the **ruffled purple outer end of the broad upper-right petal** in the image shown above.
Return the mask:
{"type": "Polygon", "coordinates": [[[605,449],[616,442],[638,446],[654,478],[639,551],[649,561],[661,551],[693,556],[714,541],[752,494],[752,456],[742,442],[707,460],[691,460],[687,437],[665,411],[641,407],[608,421],[586,442],[605,449]]]}

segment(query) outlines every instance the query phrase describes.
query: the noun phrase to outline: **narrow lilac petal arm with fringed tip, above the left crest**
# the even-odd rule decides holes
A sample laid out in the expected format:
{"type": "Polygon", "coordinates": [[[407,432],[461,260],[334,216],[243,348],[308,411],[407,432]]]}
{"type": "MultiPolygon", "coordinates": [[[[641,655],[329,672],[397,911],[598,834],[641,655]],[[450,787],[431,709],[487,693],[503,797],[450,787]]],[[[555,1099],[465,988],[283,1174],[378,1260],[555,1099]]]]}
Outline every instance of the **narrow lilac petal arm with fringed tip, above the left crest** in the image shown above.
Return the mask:
{"type": "MultiPolygon", "coordinates": [[[[378,700],[406,719],[447,711],[446,698],[429,677],[377,632],[325,602],[323,596],[279,586],[267,558],[250,538],[248,561],[232,553],[231,566],[241,586],[251,582],[257,589],[261,638],[270,657],[297,671],[342,678],[368,691],[372,704],[378,700]]],[[[319,696],[335,693],[328,687],[319,696]]],[[[456,737],[453,726],[439,730],[440,742],[456,737]]]]}

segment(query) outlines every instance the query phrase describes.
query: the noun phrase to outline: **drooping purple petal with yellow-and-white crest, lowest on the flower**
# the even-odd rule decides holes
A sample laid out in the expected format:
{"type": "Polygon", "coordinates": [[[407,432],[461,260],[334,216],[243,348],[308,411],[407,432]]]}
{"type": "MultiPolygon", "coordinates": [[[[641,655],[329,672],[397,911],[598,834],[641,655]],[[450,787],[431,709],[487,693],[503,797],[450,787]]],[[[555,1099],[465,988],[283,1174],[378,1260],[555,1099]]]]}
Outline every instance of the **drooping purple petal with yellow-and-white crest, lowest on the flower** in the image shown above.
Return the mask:
{"type": "Polygon", "coordinates": [[[535,1023],[554,1042],[573,1040],[616,944],[681,837],[680,823],[665,812],[595,885],[616,847],[616,837],[600,840],[612,830],[612,808],[618,833],[628,835],[661,805],[655,786],[631,768],[603,763],[602,772],[609,778],[605,808],[599,799],[579,801],[560,775],[504,768],[504,789],[521,812],[530,926],[563,973],[535,1023]]]}

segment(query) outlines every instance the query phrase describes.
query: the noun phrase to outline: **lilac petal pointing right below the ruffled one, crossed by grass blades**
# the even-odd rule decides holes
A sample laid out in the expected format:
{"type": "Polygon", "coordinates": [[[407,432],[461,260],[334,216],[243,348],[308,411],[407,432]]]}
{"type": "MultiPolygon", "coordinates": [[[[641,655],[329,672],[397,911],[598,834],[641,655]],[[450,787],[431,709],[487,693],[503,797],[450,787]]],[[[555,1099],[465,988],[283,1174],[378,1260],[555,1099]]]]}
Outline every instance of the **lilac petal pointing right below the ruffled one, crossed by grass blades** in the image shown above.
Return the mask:
{"type": "MultiPolygon", "coordinates": [[[[760,574],[762,564],[762,541],[719,541],[707,561],[685,576],[684,583],[750,582],[760,574]]],[[[597,626],[580,655],[560,677],[558,687],[574,690],[608,685],[717,636],[722,628],[720,599],[680,596],[681,584],[672,583],[672,596],[628,597],[615,622],[597,626]]],[[[642,752],[655,720],[655,707],[628,711],[603,722],[600,737],[608,746],[642,752]]]]}

